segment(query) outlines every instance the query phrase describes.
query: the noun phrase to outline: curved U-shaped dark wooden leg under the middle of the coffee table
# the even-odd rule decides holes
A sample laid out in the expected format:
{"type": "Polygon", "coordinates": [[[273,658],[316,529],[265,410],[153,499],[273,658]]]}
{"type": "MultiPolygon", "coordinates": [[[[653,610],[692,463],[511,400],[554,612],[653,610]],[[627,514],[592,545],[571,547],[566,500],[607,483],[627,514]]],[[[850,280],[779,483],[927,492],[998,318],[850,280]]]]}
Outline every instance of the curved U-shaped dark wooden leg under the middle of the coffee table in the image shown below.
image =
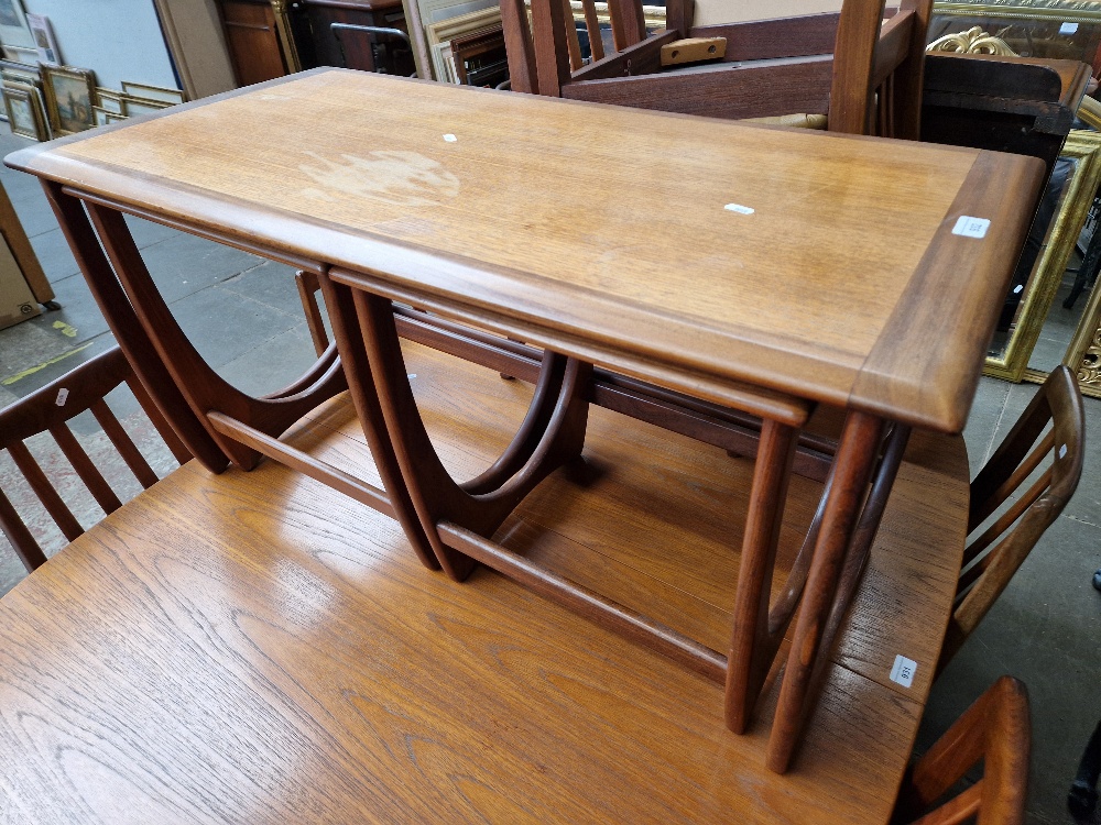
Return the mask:
{"type": "MultiPolygon", "coordinates": [[[[536,484],[580,454],[588,420],[585,396],[592,367],[546,353],[535,397],[516,438],[488,471],[459,485],[440,463],[421,419],[393,305],[358,289],[353,294],[370,365],[367,380],[374,382],[410,497],[440,565],[449,576],[461,581],[472,570],[473,560],[445,543],[436,525],[449,521],[479,536],[491,536],[536,484]]],[[[351,375],[350,381],[362,382],[364,376],[351,375]]]]}

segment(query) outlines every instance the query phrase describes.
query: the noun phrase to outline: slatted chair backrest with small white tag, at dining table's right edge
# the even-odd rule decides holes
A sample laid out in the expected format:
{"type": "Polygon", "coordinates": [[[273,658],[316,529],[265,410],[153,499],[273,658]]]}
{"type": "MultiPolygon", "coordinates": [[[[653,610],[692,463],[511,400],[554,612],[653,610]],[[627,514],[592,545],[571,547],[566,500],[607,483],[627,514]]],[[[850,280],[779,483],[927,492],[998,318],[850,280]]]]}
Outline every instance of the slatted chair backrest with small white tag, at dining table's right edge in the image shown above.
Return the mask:
{"type": "Polygon", "coordinates": [[[1084,415],[1075,374],[1057,367],[971,482],[969,540],[938,673],[1078,487],[1084,415]]]}

